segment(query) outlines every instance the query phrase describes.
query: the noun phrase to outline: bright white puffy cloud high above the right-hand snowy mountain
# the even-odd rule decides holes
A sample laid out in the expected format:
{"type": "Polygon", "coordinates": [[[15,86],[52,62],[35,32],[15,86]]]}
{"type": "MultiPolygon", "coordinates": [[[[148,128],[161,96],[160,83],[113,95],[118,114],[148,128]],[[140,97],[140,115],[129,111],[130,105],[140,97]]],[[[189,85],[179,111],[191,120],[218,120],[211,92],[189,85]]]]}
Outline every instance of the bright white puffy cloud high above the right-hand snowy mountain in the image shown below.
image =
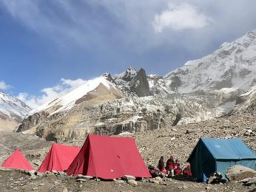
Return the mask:
{"type": "Polygon", "coordinates": [[[152,25],[155,32],[162,32],[168,28],[172,30],[198,29],[205,27],[210,20],[191,4],[169,4],[167,10],[155,15],[152,25]]]}

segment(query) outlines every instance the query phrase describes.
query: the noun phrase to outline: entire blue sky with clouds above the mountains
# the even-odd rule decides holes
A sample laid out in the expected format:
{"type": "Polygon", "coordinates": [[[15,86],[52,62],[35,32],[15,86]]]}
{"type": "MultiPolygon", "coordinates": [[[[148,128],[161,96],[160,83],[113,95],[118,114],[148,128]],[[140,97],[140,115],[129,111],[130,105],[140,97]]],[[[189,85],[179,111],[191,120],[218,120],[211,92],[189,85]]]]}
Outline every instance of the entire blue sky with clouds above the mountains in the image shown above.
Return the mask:
{"type": "Polygon", "coordinates": [[[0,0],[0,90],[33,108],[104,72],[165,75],[256,29],[255,0],[0,0]]]}

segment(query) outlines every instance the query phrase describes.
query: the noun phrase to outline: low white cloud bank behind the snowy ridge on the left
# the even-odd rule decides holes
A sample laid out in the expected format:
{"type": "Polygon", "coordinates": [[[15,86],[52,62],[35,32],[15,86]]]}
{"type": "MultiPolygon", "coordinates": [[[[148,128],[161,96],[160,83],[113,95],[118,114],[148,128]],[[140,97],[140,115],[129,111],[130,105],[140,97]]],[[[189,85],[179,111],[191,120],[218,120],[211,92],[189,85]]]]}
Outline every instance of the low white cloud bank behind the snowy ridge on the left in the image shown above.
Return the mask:
{"type": "Polygon", "coordinates": [[[57,85],[41,89],[42,95],[35,96],[29,95],[26,92],[21,92],[17,97],[32,109],[36,109],[38,106],[50,102],[51,100],[55,100],[56,98],[71,92],[73,89],[78,88],[78,86],[81,86],[86,82],[87,80],[82,80],[81,78],[76,80],[61,78],[60,83],[57,85]]]}

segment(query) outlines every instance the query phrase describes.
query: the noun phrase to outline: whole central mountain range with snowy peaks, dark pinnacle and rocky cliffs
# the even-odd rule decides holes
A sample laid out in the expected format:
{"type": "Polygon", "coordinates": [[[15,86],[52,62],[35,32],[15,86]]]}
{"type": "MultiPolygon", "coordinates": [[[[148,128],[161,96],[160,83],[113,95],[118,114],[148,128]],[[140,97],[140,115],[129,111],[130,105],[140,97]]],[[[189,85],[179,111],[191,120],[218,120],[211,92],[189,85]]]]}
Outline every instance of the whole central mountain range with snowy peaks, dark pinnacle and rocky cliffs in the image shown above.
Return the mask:
{"type": "Polygon", "coordinates": [[[256,30],[164,77],[129,67],[88,80],[30,112],[17,131],[70,140],[209,120],[256,106],[255,82],[256,30]]]}

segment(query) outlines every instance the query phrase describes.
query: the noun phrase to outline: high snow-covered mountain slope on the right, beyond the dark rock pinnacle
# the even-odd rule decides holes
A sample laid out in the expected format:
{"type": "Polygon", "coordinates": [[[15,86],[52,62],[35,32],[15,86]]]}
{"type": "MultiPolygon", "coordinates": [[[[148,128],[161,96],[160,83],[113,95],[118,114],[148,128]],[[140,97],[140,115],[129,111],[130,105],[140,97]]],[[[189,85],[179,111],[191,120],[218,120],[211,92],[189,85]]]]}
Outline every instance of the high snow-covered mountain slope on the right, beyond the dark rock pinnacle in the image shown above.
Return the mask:
{"type": "Polygon", "coordinates": [[[179,93],[222,88],[248,90],[256,82],[256,30],[222,44],[211,55],[186,62],[155,82],[164,87],[164,92],[166,89],[179,93]]]}

